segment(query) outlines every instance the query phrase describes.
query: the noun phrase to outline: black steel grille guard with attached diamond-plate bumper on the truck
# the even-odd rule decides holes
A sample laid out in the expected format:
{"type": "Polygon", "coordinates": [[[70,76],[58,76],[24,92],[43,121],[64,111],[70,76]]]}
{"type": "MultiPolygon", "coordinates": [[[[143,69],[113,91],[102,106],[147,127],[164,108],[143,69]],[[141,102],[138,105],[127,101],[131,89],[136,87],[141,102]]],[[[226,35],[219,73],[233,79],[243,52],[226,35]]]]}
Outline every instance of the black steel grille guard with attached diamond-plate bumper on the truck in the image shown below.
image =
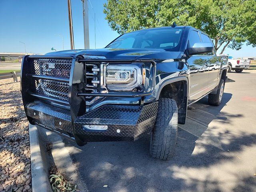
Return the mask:
{"type": "Polygon", "coordinates": [[[26,116],[30,124],[37,124],[75,141],[79,146],[86,142],[136,140],[152,131],[158,102],[144,105],[144,96],[154,92],[156,64],[149,59],[84,59],[76,56],[24,56],[21,68],[21,92],[26,116]],[[34,59],[71,59],[70,78],[35,74],[34,59]],[[86,62],[130,64],[150,62],[153,76],[151,89],[141,93],[86,93],[86,62]],[[33,92],[33,79],[66,82],[68,101],[33,92]],[[86,113],[86,96],[140,97],[140,105],[104,105],[86,113]],[[107,130],[88,130],[86,126],[108,126],[107,130]]]}

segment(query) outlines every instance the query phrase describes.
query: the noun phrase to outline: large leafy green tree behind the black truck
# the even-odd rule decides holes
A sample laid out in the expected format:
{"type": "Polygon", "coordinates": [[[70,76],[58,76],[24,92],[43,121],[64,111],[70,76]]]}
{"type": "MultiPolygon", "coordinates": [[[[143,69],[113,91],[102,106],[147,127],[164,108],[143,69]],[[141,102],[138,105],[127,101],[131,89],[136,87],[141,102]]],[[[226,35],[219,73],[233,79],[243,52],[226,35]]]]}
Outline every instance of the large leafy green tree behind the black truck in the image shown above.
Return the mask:
{"type": "Polygon", "coordinates": [[[255,0],[108,0],[103,12],[119,34],[143,28],[190,25],[206,32],[215,49],[256,46],[255,0]]]}

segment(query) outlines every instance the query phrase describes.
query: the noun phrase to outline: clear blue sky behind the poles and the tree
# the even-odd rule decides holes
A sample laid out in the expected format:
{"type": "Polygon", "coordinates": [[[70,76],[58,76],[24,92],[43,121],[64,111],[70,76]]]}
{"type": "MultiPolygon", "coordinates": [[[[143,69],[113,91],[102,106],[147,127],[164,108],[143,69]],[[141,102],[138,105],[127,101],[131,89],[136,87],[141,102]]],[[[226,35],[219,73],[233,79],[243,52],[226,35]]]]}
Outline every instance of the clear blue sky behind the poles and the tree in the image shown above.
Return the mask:
{"type": "MultiPolygon", "coordinates": [[[[105,20],[103,3],[106,0],[90,0],[89,31],[90,48],[94,48],[94,13],[96,13],[96,48],[103,48],[118,33],[113,31],[105,20]],[[92,6],[91,6],[91,4],[92,6]],[[93,9],[92,9],[93,7],[93,9]]],[[[71,0],[76,49],[84,48],[84,31],[82,3],[71,0]]],[[[51,48],[62,50],[61,34],[64,38],[64,49],[70,49],[67,0],[0,0],[0,52],[25,52],[45,54],[51,48]]],[[[256,57],[256,48],[244,45],[236,51],[226,48],[224,54],[236,57],[256,57]]]]}

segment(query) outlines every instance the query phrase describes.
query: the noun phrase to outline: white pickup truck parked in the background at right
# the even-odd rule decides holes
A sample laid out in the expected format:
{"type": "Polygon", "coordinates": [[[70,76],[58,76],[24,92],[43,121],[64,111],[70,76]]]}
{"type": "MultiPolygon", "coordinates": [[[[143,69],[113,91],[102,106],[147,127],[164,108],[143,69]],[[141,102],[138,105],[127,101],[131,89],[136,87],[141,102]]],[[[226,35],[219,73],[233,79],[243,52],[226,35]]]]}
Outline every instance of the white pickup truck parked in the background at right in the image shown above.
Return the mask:
{"type": "Polygon", "coordinates": [[[250,62],[248,59],[228,59],[228,72],[235,70],[236,73],[241,73],[250,67],[250,62]]]}

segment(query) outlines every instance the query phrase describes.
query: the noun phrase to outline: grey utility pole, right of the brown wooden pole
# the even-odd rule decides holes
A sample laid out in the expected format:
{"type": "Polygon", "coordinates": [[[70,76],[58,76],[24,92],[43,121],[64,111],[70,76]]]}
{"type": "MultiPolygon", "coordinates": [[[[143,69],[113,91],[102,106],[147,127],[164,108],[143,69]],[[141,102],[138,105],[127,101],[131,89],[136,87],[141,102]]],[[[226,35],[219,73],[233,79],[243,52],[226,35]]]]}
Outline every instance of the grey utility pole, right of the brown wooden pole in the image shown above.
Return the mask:
{"type": "Polygon", "coordinates": [[[89,20],[88,20],[88,0],[82,0],[84,18],[84,48],[90,49],[89,43],[89,20]]]}

